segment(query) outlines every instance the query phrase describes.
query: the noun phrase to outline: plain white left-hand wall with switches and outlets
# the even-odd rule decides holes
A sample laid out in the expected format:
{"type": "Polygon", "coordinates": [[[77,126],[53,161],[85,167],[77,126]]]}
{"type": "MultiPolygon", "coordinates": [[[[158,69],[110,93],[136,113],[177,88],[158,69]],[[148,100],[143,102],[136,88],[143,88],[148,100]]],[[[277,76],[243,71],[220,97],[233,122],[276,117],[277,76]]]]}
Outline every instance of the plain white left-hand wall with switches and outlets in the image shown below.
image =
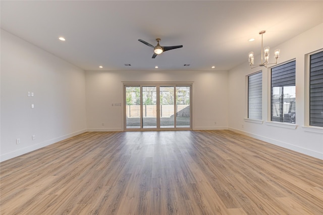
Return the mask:
{"type": "Polygon", "coordinates": [[[1,30],[0,161],[84,131],[85,72],[1,30]]]}

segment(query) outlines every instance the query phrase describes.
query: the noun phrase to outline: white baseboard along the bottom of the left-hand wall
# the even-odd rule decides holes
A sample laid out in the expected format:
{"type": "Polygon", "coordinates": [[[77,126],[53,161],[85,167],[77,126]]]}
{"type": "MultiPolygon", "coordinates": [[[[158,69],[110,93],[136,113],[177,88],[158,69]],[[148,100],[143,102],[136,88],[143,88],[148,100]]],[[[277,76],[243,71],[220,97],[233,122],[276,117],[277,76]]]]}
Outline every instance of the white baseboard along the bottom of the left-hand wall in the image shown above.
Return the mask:
{"type": "Polygon", "coordinates": [[[74,137],[74,136],[82,134],[82,133],[84,133],[86,131],[87,131],[86,129],[83,129],[83,130],[80,130],[80,131],[77,131],[77,132],[73,132],[73,133],[61,136],[61,137],[53,138],[53,139],[46,140],[46,141],[41,142],[41,143],[37,143],[37,144],[30,145],[30,146],[27,146],[27,147],[24,147],[24,148],[20,148],[18,150],[11,151],[11,152],[6,153],[6,154],[2,154],[2,155],[0,155],[0,162],[3,162],[5,160],[8,160],[8,159],[11,159],[11,158],[26,154],[28,152],[37,150],[37,149],[45,147],[47,145],[57,143],[59,141],[65,140],[67,138],[74,137]]]}

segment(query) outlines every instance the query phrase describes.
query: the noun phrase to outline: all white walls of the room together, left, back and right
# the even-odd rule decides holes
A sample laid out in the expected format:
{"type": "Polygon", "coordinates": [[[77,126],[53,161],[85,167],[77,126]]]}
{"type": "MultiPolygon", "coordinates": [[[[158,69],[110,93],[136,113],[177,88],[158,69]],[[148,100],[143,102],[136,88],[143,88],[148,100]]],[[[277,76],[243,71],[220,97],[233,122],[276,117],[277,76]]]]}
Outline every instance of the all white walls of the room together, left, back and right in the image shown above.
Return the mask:
{"type": "MultiPolygon", "coordinates": [[[[84,131],[123,130],[123,82],[193,82],[193,129],[231,129],[323,159],[322,129],[304,127],[304,55],[323,48],[323,24],[280,44],[280,63],[296,59],[296,124],[270,121],[263,70],[263,123],[246,122],[248,62],[226,71],[87,71],[2,30],[0,161],[84,131]],[[27,92],[34,97],[27,97],[27,92]],[[35,108],[31,109],[31,103],[35,108]],[[112,106],[122,103],[122,106],[112,106]],[[217,122],[217,124],[214,124],[217,122]],[[104,124],[102,126],[102,123],[104,124]],[[312,132],[316,131],[316,132],[312,132]],[[36,135],[32,140],[31,135],[36,135]],[[16,144],[20,138],[21,143],[16,144]]],[[[271,47],[272,50],[278,47],[271,47]]],[[[257,59],[260,57],[258,56],[257,59]]]]}

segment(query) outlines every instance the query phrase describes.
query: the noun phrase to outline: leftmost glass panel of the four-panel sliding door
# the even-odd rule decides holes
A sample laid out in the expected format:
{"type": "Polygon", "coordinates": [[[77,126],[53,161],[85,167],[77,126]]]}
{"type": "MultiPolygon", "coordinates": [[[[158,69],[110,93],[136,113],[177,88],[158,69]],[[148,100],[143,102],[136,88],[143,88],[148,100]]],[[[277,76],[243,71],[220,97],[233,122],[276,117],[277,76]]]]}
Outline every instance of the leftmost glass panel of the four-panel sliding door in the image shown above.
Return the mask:
{"type": "Polygon", "coordinates": [[[139,86],[126,86],[126,105],[126,128],[141,128],[139,86]]]}

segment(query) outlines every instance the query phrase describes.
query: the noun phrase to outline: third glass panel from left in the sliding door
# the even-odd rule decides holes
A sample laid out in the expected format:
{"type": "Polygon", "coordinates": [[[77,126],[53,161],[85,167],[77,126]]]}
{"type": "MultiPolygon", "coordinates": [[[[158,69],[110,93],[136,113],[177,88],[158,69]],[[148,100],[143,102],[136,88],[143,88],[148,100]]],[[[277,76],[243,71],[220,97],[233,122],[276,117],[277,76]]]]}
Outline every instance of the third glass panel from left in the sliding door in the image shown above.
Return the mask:
{"type": "Polygon", "coordinates": [[[159,87],[160,128],[175,128],[174,123],[174,86],[159,87]]]}

